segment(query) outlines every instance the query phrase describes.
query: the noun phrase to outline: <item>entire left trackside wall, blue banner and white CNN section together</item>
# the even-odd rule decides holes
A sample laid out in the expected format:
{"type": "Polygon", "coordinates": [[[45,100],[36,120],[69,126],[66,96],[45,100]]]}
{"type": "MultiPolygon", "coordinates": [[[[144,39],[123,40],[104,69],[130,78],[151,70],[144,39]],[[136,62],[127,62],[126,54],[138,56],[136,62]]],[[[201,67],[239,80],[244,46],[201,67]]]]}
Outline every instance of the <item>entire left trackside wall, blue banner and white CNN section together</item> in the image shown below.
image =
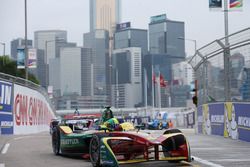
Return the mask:
{"type": "Polygon", "coordinates": [[[48,131],[54,117],[39,91],[0,80],[0,135],[48,131]]]}

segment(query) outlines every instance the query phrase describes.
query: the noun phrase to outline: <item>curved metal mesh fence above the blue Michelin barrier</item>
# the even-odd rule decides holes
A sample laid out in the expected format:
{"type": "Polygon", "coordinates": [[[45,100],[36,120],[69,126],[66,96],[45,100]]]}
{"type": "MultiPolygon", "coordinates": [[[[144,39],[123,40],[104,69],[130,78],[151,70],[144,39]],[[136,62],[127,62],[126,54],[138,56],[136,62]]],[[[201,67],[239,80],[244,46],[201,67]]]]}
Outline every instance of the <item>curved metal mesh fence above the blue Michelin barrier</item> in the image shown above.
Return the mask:
{"type": "Polygon", "coordinates": [[[199,105],[218,101],[250,101],[250,28],[201,47],[189,63],[198,81],[199,105]],[[226,38],[228,46],[225,44],[226,38]],[[228,73],[224,64],[227,51],[228,73]],[[228,82],[228,87],[225,82],[228,82]],[[229,100],[226,98],[227,92],[229,100]]]}

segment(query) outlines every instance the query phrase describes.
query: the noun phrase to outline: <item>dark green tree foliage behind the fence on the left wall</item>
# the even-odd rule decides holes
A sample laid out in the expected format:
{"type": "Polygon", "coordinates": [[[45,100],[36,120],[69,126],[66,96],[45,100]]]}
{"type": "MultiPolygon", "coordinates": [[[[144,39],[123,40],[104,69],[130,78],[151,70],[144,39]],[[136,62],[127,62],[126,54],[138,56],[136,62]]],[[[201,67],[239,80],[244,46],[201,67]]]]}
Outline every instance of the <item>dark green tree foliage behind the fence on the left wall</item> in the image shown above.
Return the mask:
{"type": "MultiPolygon", "coordinates": [[[[25,69],[17,69],[16,61],[11,60],[8,56],[0,57],[0,72],[13,75],[20,78],[25,78],[25,69]]],[[[28,74],[28,79],[36,84],[39,84],[39,81],[33,74],[28,74]]]]}

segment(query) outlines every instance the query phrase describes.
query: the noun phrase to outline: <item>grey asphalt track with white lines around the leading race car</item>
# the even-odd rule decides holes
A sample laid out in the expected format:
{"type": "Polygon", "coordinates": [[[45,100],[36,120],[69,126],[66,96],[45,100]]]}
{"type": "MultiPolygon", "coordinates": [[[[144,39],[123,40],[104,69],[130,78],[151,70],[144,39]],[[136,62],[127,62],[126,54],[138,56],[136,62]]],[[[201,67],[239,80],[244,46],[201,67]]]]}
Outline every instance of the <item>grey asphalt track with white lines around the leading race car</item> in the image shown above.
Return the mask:
{"type": "MultiPolygon", "coordinates": [[[[162,134],[162,131],[150,131],[162,134]]],[[[250,166],[250,143],[226,139],[220,136],[196,135],[193,130],[183,130],[186,134],[194,161],[191,163],[150,162],[123,167],[247,167],[250,166]]],[[[55,156],[51,149],[48,132],[25,136],[0,136],[0,167],[92,167],[89,160],[55,156]]]]}

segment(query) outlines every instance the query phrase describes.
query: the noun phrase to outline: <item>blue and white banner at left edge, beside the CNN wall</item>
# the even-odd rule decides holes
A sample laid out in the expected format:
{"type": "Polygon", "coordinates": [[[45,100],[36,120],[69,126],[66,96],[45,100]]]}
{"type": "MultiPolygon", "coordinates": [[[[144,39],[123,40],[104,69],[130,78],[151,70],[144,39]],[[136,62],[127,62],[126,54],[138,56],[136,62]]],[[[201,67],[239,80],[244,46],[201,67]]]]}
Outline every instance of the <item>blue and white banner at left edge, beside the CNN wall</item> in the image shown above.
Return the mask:
{"type": "Polygon", "coordinates": [[[0,81],[0,134],[13,134],[12,84],[0,81]]]}

